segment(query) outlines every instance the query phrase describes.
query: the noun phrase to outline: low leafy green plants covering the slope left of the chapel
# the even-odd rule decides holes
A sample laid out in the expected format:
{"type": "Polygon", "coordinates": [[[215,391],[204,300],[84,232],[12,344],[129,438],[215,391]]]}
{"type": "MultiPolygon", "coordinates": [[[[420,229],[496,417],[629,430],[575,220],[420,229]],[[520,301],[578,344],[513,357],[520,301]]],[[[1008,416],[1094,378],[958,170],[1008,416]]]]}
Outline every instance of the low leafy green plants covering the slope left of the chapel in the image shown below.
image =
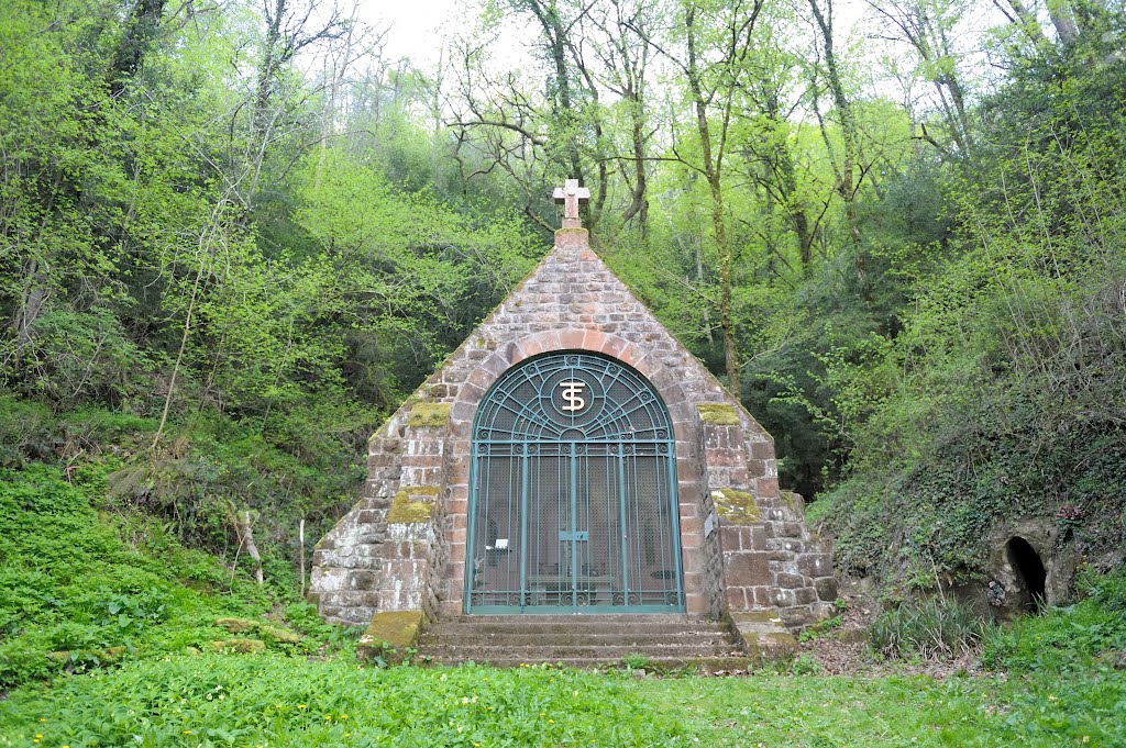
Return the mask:
{"type": "MultiPolygon", "coordinates": [[[[216,558],[180,544],[144,515],[99,515],[105,469],[61,471],[33,465],[0,472],[0,686],[60,672],[78,673],[125,659],[204,649],[230,638],[215,627],[227,616],[254,618],[285,591],[254,585],[216,558]]],[[[349,637],[286,609],[300,642],[267,636],[280,651],[351,648],[349,637]]],[[[270,629],[272,631],[272,629],[270,629]]]]}

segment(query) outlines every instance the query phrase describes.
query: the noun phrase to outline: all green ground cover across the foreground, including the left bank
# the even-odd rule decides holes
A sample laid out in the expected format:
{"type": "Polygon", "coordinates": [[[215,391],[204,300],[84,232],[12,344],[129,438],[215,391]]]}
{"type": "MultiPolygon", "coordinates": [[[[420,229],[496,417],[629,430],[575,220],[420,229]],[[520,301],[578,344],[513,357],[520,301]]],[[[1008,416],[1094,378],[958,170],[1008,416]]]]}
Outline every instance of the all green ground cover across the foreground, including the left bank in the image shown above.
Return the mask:
{"type": "Polygon", "coordinates": [[[942,682],[819,676],[808,659],[745,678],[381,669],[282,584],[107,511],[104,472],[0,470],[0,748],[1126,746],[1126,575],[991,630],[997,674],[942,682]],[[301,641],[209,651],[232,615],[301,641]]]}

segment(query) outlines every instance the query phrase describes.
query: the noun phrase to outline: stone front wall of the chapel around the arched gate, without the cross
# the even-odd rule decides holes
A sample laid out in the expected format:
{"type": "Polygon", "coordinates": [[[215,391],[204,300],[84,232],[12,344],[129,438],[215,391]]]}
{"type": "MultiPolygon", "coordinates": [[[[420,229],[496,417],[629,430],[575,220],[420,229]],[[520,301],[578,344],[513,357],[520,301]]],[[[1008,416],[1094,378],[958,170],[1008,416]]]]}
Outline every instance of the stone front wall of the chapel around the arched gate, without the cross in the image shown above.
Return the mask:
{"type": "Polygon", "coordinates": [[[632,367],[668,407],[676,439],[687,613],[780,619],[801,629],[835,598],[828,548],[778,488],[774,441],[590,250],[555,246],[370,439],[364,497],[318,544],[312,597],[330,621],[459,615],[471,431],[515,364],[589,351],[632,367]]]}

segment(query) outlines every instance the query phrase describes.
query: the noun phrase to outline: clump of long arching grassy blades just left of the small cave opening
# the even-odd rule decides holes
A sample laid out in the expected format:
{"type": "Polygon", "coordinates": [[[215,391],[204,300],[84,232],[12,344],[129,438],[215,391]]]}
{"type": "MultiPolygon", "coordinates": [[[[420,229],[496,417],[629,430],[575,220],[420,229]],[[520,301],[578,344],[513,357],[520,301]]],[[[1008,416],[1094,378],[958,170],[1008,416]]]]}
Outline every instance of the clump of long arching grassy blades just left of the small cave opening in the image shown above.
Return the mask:
{"type": "Polygon", "coordinates": [[[936,595],[881,613],[868,630],[868,640],[888,657],[957,657],[973,651],[985,631],[985,623],[968,605],[936,595]]]}

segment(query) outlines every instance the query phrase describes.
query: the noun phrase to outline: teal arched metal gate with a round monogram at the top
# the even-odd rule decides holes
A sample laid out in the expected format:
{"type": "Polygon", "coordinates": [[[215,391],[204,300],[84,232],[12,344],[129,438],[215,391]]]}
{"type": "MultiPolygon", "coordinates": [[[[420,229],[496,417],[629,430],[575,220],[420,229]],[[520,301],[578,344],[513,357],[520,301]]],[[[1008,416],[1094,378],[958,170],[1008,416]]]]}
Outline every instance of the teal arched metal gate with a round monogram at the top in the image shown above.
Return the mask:
{"type": "Polygon", "coordinates": [[[683,611],[673,434],[618,361],[549,353],[477,409],[466,613],[683,611]]]}

